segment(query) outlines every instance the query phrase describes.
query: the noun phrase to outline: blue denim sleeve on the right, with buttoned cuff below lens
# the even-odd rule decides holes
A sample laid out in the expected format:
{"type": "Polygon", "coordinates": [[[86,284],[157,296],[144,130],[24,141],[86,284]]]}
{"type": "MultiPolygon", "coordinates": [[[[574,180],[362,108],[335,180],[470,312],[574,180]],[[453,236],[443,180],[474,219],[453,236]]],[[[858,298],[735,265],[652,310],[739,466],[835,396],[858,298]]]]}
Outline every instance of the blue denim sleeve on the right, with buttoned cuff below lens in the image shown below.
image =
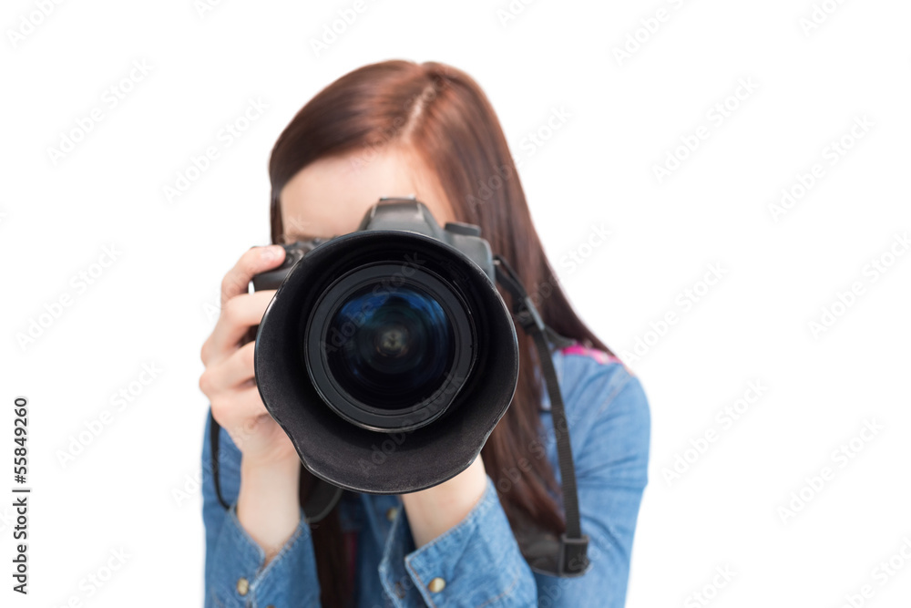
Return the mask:
{"type": "MultiPolygon", "coordinates": [[[[571,391],[581,401],[568,407],[568,422],[589,571],[575,578],[532,572],[488,477],[483,497],[465,520],[420,549],[415,550],[404,510],[396,516],[379,573],[397,608],[624,605],[647,484],[649,406],[639,380],[622,366],[590,375],[584,385],[571,391]]],[[[554,463],[556,446],[549,448],[554,463]]],[[[555,473],[559,479],[558,469],[555,473]]]]}

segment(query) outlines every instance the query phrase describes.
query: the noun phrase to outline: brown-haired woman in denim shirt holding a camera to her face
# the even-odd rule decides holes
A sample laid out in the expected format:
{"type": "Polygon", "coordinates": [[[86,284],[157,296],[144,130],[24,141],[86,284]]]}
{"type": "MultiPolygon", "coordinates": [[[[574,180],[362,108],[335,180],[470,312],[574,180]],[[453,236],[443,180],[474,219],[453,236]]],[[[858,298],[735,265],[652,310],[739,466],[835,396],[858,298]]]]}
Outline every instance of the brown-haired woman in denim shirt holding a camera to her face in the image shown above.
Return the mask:
{"type": "Polygon", "coordinates": [[[200,388],[221,427],[220,494],[230,505],[217,498],[207,428],[206,605],[622,606],[647,483],[648,403],[557,283],[503,131],[475,81],[437,63],[354,70],[292,119],[269,171],[272,242],[353,232],[380,197],[414,194],[441,225],[479,225],[545,323],[576,341],[552,356],[591,565],[581,577],[557,578],[533,572],[519,550],[524,527],[559,534],[565,526],[549,399],[535,346],[521,333],[516,396],[481,458],[434,488],[347,494],[308,525],[301,505],[312,479],[266,412],[253,345],[244,344],[273,294],[248,294],[247,284],[284,257],[271,245],[244,253],[225,276],[220,319],[202,346],[200,388]]]}

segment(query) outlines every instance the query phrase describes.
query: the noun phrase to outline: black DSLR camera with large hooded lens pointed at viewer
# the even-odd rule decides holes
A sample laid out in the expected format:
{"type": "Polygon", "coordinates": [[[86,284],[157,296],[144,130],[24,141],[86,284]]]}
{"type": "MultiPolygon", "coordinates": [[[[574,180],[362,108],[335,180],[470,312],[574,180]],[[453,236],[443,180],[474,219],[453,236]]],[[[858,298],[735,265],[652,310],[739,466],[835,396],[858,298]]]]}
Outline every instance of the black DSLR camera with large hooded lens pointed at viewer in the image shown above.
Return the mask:
{"type": "Polygon", "coordinates": [[[413,198],[355,232],[285,245],[256,335],[262,401],[303,465],[343,489],[401,494],[466,469],[516,390],[516,329],[477,226],[413,198]]]}

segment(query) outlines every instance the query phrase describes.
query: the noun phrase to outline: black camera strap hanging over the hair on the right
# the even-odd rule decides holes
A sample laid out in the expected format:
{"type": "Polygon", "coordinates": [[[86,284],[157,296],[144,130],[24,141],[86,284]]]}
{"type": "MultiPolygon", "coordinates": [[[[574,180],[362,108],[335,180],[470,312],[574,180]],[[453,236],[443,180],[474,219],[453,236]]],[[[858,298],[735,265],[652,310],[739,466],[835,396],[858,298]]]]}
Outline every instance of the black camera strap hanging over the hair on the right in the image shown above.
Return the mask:
{"type": "MultiPolygon", "coordinates": [[[[578,490],[576,488],[576,468],[573,465],[572,447],[569,444],[569,426],[563,396],[560,394],[557,369],[554,367],[550,356],[550,345],[558,347],[568,346],[572,341],[558,335],[553,329],[544,324],[541,315],[537,312],[535,304],[522,285],[516,271],[499,255],[494,256],[496,281],[512,296],[513,314],[516,322],[527,335],[530,335],[537,346],[538,363],[548,386],[550,397],[550,412],[554,422],[554,435],[557,438],[557,454],[560,467],[560,478],[563,489],[563,510],[566,515],[566,531],[560,535],[556,551],[548,548],[528,548],[536,555],[527,555],[535,558],[539,567],[532,568],[553,576],[578,576],[584,574],[589,567],[588,548],[589,537],[582,534],[578,511],[578,490]],[[541,550],[544,551],[541,551],[541,550]]],[[[538,541],[546,543],[547,541],[538,541]]]]}

